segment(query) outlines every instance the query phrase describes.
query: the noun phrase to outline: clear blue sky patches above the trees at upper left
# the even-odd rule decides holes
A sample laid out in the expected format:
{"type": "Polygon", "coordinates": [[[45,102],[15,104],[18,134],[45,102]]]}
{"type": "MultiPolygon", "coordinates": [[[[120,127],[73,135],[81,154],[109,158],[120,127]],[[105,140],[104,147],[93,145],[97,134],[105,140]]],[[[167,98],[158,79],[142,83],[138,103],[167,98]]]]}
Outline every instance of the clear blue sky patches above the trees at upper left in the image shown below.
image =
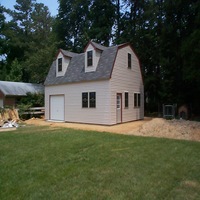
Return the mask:
{"type": "MultiPolygon", "coordinates": [[[[47,6],[52,16],[57,15],[58,13],[57,0],[36,0],[36,2],[43,3],[45,6],[47,6]]],[[[0,0],[0,4],[6,8],[13,9],[13,6],[16,4],[16,0],[0,0]]]]}

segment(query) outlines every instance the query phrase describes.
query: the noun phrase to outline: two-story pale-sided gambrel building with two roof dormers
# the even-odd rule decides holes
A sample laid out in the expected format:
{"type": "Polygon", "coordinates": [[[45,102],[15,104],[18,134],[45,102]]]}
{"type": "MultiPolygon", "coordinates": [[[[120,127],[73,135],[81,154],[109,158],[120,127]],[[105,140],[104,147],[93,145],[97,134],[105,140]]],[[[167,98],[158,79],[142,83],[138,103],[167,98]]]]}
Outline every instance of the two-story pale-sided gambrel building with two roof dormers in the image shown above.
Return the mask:
{"type": "Polygon", "coordinates": [[[130,44],[90,41],[81,54],[58,51],[45,81],[46,120],[113,125],[143,118],[143,79],[130,44]]]}

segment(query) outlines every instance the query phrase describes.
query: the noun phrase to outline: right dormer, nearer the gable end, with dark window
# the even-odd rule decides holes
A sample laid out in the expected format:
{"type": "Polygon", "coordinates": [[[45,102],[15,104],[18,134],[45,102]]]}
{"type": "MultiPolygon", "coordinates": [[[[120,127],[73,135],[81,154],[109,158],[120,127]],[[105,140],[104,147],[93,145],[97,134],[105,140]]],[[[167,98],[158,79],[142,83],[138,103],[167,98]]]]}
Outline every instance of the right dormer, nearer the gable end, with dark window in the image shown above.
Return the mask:
{"type": "Polygon", "coordinates": [[[106,47],[90,41],[85,48],[85,72],[96,71],[102,51],[106,47]]]}

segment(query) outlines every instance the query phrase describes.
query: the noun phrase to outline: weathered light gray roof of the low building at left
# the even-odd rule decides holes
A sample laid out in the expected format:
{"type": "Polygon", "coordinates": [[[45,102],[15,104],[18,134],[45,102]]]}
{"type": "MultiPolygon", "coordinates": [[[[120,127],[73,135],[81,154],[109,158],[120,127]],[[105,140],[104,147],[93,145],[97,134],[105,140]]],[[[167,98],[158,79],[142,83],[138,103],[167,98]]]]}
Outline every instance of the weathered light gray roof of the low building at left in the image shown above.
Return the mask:
{"type": "Polygon", "coordinates": [[[0,91],[5,96],[26,96],[27,93],[44,93],[41,84],[0,81],[0,91]]]}

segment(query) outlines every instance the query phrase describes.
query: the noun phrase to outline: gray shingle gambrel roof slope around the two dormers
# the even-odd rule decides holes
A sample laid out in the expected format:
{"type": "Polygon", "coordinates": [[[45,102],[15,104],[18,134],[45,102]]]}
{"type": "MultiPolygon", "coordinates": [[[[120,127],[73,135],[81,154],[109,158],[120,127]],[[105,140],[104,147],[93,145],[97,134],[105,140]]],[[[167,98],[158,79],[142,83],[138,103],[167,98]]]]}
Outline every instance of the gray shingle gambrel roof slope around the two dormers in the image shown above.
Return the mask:
{"type": "MultiPolygon", "coordinates": [[[[96,71],[85,72],[85,54],[70,54],[71,61],[64,76],[56,77],[56,61],[50,67],[49,73],[45,80],[45,85],[58,85],[65,83],[74,83],[81,81],[94,81],[109,79],[119,46],[104,47],[97,43],[91,42],[92,45],[102,51],[96,71]]],[[[64,51],[69,57],[69,52],[64,51]]],[[[64,53],[63,53],[64,54],[64,53]]]]}

